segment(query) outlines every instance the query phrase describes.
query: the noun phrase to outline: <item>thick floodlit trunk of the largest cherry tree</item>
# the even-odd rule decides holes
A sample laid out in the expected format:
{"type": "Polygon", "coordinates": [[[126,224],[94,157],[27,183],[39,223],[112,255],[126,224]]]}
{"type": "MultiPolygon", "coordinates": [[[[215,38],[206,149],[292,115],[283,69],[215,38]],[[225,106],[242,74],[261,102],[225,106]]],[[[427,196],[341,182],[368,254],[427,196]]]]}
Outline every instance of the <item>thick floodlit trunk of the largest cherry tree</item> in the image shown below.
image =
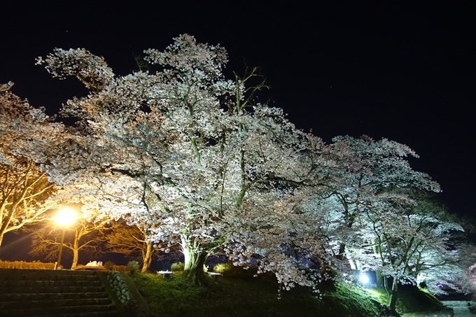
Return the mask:
{"type": "Polygon", "coordinates": [[[185,257],[183,275],[193,283],[202,285],[204,281],[203,266],[209,255],[209,250],[202,247],[194,237],[181,236],[182,252],[185,257]]]}

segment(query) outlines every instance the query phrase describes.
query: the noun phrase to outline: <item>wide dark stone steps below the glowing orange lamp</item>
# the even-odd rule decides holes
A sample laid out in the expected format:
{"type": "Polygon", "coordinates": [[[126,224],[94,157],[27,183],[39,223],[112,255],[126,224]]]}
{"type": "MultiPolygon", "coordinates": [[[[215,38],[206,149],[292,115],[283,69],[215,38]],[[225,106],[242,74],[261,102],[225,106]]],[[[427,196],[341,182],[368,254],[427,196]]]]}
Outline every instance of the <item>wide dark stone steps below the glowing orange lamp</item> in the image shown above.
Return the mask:
{"type": "Polygon", "coordinates": [[[0,269],[0,316],[118,316],[97,272],[0,269]]]}

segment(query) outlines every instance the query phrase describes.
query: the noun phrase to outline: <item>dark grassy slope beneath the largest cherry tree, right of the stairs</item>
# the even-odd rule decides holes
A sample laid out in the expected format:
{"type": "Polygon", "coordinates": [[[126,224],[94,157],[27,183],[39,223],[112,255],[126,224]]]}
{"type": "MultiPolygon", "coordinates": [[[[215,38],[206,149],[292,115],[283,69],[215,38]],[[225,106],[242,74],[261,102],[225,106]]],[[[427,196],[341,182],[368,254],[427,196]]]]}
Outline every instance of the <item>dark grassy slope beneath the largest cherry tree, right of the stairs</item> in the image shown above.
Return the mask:
{"type": "Polygon", "coordinates": [[[207,285],[195,286],[180,274],[162,279],[158,274],[133,274],[151,311],[158,316],[339,316],[376,317],[379,305],[365,291],[329,285],[322,300],[307,288],[281,291],[271,279],[207,276],[207,285]]]}

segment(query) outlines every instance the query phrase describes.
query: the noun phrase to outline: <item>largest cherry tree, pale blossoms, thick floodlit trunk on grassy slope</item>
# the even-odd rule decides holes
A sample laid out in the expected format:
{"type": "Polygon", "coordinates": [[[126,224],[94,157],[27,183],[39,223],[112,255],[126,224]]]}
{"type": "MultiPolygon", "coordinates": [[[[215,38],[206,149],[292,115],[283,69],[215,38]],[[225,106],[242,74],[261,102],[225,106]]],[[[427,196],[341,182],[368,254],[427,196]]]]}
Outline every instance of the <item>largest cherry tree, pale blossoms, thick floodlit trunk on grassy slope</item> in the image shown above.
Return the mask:
{"type": "Polygon", "coordinates": [[[54,76],[108,83],[64,105],[80,130],[57,147],[61,153],[45,150],[42,163],[59,183],[94,195],[85,208],[146,224],[154,241],[179,241],[186,274],[200,280],[204,260],[231,237],[237,216],[267,209],[265,202],[302,181],[305,138],[281,109],[246,109],[264,87],[246,90],[254,71],[224,80],[223,48],[187,35],[175,40],[165,52],[146,51],[146,60],[164,67],[156,73],[111,78],[102,63],[102,71],[78,73],[71,66],[78,59],[99,60],[85,50],[57,49],[40,59],[54,76]]]}

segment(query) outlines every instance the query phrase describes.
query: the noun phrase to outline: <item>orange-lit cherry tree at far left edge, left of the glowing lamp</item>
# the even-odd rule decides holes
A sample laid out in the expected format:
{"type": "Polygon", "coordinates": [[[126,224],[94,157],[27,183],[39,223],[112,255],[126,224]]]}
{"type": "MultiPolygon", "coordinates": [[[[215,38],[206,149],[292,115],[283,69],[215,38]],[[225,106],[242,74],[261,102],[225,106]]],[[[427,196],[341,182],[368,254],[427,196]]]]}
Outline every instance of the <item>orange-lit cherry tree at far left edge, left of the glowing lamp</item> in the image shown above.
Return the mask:
{"type": "MultiPolygon", "coordinates": [[[[26,155],[33,139],[47,140],[54,124],[41,109],[31,107],[9,91],[0,91],[0,245],[3,235],[44,219],[59,201],[52,199],[64,190],[48,181],[48,176],[26,155]]],[[[2,86],[2,87],[3,87],[2,86]]]]}

